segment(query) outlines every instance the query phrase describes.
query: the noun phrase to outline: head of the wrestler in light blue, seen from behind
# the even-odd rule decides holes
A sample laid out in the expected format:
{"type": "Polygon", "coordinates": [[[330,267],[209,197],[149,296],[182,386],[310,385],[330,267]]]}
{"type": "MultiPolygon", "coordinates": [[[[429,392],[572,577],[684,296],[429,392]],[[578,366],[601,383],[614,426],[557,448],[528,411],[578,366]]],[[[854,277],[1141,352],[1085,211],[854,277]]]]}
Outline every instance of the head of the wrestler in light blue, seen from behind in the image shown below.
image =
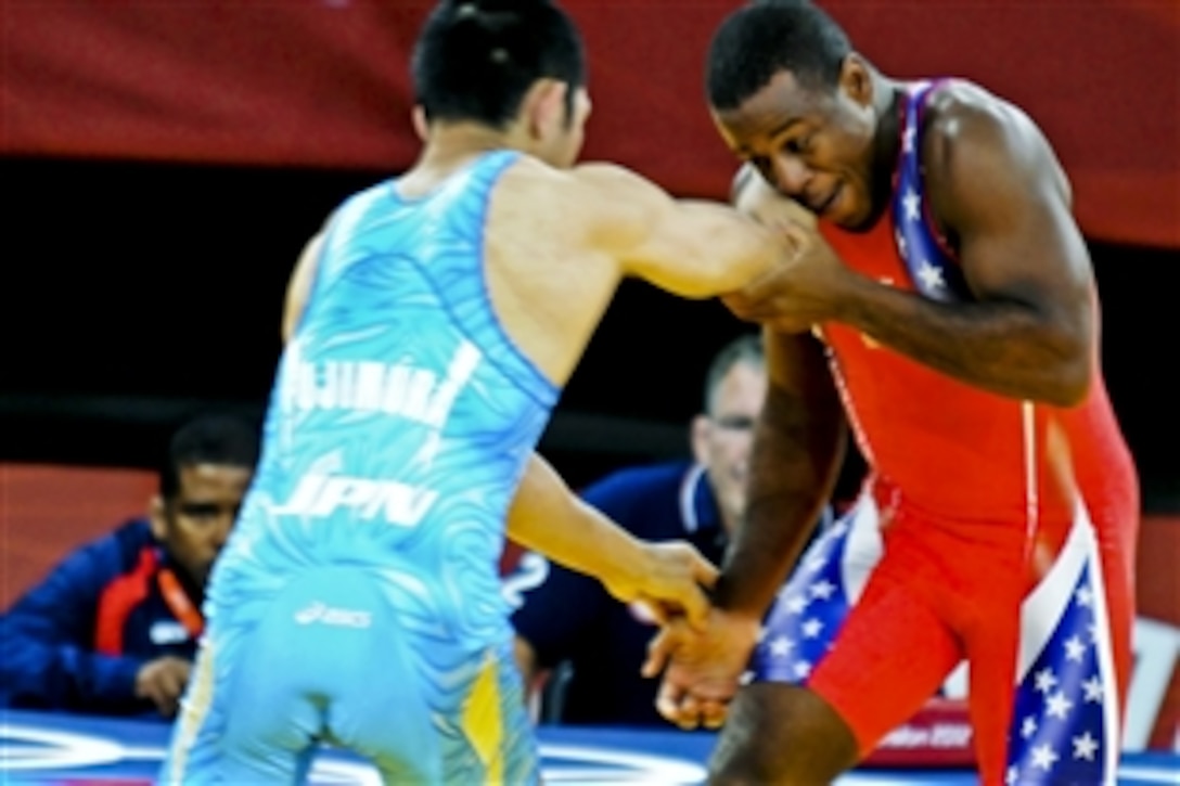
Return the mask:
{"type": "Polygon", "coordinates": [[[442,0],[414,47],[413,79],[427,137],[439,124],[476,124],[555,166],[582,150],[582,39],[549,0],[442,0]]]}

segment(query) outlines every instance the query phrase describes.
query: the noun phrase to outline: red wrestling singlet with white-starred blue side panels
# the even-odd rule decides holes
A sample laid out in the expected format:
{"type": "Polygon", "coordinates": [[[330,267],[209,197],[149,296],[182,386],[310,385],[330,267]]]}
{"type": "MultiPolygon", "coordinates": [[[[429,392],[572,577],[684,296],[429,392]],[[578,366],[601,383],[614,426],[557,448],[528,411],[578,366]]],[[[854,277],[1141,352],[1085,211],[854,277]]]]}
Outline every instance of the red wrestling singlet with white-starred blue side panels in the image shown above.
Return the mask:
{"type": "MultiPolygon", "coordinates": [[[[904,127],[920,123],[930,87],[911,91],[904,127]]],[[[953,299],[956,262],[931,229],[918,171],[917,151],[902,150],[893,209],[870,231],[819,229],[859,273],[953,299]]],[[[1057,408],[972,387],[843,325],[817,333],[870,477],[768,616],[755,679],[815,690],[867,754],[966,659],[985,782],[1027,782],[1023,772],[1060,751],[1070,778],[1102,782],[1130,668],[1139,498],[1101,374],[1081,405],[1057,408]],[[1079,616],[1077,600],[1100,591],[1079,616]],[[1073,755],[1075,739],[1087,755],[1073,755]]]]}

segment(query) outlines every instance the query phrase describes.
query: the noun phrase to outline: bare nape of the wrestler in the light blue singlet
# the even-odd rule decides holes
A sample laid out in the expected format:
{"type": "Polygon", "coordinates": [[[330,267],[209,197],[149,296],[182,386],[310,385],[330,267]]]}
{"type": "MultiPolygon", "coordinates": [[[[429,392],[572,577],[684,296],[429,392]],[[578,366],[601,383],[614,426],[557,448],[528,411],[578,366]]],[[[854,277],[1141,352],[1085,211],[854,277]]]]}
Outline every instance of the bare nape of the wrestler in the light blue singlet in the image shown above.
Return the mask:
{"type": "Polygon", "coordinates": [[[505,130],[478,123],[433,123],[424,142],[418,161],[399,178],[406,196],[434,190],[474,158],[493,150],[530,152],[527,133],[516,123],[505,130]]]}

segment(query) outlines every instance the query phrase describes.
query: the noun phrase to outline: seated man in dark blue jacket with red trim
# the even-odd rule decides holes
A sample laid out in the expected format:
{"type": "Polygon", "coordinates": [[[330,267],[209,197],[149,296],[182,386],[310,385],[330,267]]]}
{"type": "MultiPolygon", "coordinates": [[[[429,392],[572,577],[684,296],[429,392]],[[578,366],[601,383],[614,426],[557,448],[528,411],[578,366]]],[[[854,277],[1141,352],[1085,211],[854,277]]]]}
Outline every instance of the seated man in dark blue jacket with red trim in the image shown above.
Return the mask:
{"type": "Polygon", "coordinates": [[[0,617],[0,706],[172,718],[257,454],[235,418],[177,431],[150,516],[74,551],[0,617]]]}

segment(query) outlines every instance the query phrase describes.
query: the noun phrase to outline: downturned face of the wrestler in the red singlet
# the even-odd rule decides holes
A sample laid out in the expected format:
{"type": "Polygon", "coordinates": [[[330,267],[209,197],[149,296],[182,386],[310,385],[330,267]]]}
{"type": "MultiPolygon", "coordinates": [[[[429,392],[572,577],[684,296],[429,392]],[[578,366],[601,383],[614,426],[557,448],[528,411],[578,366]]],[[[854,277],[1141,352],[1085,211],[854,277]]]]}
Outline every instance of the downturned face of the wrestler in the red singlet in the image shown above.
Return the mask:
{"type": "Polygon", "coordinates": [[[809,90],[780,71],[735,110],[713,112],[735,156],[779,192],[847,229],[876,215],[872,80],[854,57],[834,91],[809,90]]]}

